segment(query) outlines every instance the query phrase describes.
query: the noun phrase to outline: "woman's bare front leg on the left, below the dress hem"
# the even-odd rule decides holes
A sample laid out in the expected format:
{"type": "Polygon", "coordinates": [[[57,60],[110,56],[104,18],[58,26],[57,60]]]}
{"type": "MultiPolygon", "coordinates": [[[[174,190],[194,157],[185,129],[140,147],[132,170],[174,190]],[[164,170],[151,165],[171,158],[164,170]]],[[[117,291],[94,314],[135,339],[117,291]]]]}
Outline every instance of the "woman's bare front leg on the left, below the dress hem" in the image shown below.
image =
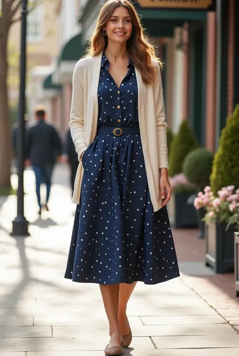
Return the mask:
{"type": "Polygon", "coordinates": [[[122,342],[121,327],[118,323],[118,296],[120,285],[100,284],[100,291],[103,298],[104,309],[109,321],[110,342],[108,347],[120,346],[122,342]]]}

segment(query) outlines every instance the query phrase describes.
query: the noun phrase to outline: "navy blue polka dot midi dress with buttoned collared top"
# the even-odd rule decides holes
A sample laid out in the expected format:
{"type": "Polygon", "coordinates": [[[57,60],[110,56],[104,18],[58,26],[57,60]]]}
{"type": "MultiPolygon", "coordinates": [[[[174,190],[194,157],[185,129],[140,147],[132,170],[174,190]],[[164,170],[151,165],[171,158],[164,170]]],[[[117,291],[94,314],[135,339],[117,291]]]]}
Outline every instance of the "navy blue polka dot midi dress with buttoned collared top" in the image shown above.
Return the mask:
{"type": "MultiPolygon", "coordinates": [[[[139,127],[138,88],[132,61],[117,87],[103,55],[98,127],[139,127]]],[[[140,134],[96,135],[84,153],[65,277],[99,284],[156,284],[178,277],[166,207],[150,199],[140,134]]]]}

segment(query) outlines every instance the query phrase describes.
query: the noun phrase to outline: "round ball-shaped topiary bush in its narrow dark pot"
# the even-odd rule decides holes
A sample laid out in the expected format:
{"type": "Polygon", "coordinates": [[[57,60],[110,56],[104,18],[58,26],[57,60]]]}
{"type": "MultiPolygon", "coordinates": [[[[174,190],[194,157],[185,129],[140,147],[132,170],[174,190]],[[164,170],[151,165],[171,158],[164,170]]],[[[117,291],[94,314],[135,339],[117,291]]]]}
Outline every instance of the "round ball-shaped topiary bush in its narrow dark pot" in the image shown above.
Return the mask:
{"type": "MultiPolygon", "coordinates": [[[[187,180],[194,184],[197,188],[197,192],[203,190],[209,185],[210,175],[212,172],[213,152],[206,148],[196,148],[189,152],[183,163],[183,173],[187,180]]],[[[193,194],[188,202],[193,204],[197,194],[193,194]]],[[[196,211],[199,226],[199,238],[204,238],[204,215],[206,213],[205,208],[202,207],[196,211]]]]}

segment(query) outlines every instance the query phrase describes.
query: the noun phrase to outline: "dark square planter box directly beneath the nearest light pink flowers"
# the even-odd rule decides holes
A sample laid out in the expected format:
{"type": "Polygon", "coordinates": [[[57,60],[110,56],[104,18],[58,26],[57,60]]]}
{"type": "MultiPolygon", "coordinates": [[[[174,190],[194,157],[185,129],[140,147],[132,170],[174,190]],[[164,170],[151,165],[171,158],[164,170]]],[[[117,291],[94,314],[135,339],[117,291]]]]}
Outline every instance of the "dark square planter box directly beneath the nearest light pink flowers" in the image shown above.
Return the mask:
{"type": "Polygon", "coordinates": [[[234,231],[234,225],[226,231],[226,224],[205,224],[206,266],[215,273],[234,270],[234,231]]]}

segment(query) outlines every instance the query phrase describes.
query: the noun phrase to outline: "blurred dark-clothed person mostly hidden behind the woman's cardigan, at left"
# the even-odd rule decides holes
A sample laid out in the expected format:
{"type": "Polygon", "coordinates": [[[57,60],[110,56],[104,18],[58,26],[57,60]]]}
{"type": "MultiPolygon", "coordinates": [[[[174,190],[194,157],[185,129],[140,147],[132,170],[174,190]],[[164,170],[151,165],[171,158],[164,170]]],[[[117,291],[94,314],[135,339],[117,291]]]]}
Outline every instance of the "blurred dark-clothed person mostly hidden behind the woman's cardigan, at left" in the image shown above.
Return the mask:
{"type": "Polygon", "coordinates": [[[76,148],[72,140],[72,135],[71,135],[71,130],[69,129],[67,132],[66,136],[66,142],[65,142],[65,153],[67,156],[67,162],[70,165],[71,169],[71,187],[72,187],[72,193],[74,191],[74,184],[75,184],[75,179],[76,179],[76,172],[78,168],[78,155],[76,153],[76,148]]]}

